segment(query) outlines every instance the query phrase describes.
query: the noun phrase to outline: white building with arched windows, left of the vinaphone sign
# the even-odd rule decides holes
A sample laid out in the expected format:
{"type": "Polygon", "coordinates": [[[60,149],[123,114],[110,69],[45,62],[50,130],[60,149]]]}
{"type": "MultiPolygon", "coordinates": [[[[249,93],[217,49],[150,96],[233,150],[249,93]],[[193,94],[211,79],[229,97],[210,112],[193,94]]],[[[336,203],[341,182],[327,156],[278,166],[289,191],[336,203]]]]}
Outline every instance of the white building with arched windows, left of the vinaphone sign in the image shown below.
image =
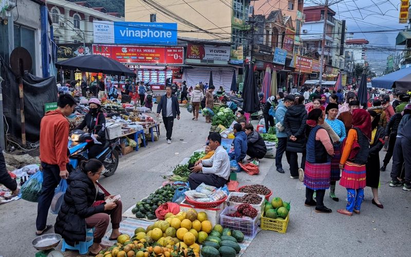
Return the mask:
{"type": "Polygon", "coordinates": [[[47,8],[53,22],[56,44],[84,43],[93,41],[93,21],[124,21],[119,13],[108,13],[105,8],[91,8],[88,1],[69,2],[47,0],[47,8]]]}

